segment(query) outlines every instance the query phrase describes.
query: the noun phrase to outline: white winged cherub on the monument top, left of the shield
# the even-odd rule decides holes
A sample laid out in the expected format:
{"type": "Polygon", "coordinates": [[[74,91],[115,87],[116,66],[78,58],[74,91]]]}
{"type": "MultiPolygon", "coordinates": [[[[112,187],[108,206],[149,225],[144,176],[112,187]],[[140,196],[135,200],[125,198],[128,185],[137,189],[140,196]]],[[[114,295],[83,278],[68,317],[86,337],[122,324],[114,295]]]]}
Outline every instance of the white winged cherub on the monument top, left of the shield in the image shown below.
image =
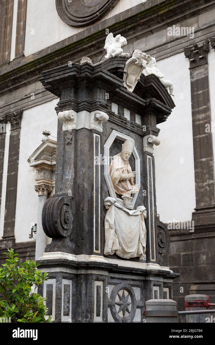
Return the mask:
{"type": "Polygon", "coordinates": [[[121,36],[121,35],[117,35],[114,38],[113,33],[109,33],[109,35],[106,38],[105,41],[105,47],[104,49],[107,50],[107,55],[105,56],[106,59],[109,59],[111,56],[125,56],[125,57],[129,57],[128,53],[124,53],[123,49],[121,47],[126,46],[127,45],[127,41],[126,38],[121,36]]]}

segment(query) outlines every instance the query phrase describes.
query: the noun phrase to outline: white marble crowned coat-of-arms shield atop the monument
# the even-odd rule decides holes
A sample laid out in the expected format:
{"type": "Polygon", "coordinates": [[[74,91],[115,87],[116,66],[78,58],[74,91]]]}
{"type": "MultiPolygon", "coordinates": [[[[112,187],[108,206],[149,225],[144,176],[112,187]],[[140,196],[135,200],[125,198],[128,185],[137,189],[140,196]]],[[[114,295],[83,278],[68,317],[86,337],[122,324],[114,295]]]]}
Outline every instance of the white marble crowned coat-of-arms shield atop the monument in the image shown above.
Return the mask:
{"type": "Polygon", "coordinates": [[[124,68],[124,84],[123,86],[130,92],[134,91],[134,88],[139,80],[143,70],[146,68],[147,63],[150,61],[150,56],[146,53],[136,49],[133,52],[132,57],[126,62],[124,68]]]}

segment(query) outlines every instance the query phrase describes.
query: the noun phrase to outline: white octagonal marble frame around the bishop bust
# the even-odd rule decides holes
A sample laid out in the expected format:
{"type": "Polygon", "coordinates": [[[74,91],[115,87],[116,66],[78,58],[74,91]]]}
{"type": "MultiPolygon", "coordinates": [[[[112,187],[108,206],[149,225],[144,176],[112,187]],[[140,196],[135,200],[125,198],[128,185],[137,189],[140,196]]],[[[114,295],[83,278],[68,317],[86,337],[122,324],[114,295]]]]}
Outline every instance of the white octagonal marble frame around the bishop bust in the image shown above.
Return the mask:
{"type": "MultiPolygon", "coordinates": [[[[132,194],[131,196],[133,197],[133,200],[130,202],[129,206],[125,206],[123,199],[117,198],[115,190],[114,190],[114,186],[113,186],[113,183],[111,181],[110,174],[109,174],[109,169],[110,169],[109,151],[110,151],[111,145],[113,144],[115,139],[126,141],[127,139],[130,139],[130,138],[131,137],[129,137],[128,135],[117,132],[116,130],[113,130],[112,133],[109,135],[109,137],[108,137],[108,139],[104,145],[104,157],[105,157],[105,159],[104,159],[104,162],[105,162],[105,164],[104,164],[104,176],[105,176],[105,181],[107,183],[110,197],[116,199],[116,201],[119,205],[133,210],[139,192],[132,194]]],[[[137,172],[136,179],[135,179],[136,180],[135,187],[137,187],[138,191],[139,191],[139,189],[140,189],[140,158],[139,158],[136,147],[134,147],[134,150],[132,153],[134,155],[135,170],[137,172]]]]}

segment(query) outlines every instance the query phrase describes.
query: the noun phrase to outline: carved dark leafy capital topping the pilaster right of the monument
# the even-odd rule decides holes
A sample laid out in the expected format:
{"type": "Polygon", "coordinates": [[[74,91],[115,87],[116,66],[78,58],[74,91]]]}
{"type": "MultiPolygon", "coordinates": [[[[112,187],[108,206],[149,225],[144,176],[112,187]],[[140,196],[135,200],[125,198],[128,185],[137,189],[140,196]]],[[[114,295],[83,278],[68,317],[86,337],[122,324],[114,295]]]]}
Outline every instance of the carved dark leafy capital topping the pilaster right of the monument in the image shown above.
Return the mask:
{"type": "Polygon", "coordinates": [[[195,43],[193,47],[185,50],[184,55],[189,59],[189,68],[199,67],[208,63],[207,54],[209,51],[209,39],[198,45],[195,43]]]}

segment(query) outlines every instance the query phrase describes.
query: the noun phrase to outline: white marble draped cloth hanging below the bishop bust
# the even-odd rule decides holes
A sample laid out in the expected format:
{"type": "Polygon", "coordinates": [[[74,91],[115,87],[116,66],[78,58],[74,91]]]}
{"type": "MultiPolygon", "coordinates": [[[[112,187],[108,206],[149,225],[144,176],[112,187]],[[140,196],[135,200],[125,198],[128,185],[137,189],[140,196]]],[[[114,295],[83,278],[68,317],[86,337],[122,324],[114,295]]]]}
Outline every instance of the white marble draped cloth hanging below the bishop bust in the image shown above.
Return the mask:
{"type": "Polygon", "coordinates": [[[139,206],[136,210],[117,204],[114,198],[105,199],[105,255],[142,260],[146,253],[146,209],[139,206]]]}

